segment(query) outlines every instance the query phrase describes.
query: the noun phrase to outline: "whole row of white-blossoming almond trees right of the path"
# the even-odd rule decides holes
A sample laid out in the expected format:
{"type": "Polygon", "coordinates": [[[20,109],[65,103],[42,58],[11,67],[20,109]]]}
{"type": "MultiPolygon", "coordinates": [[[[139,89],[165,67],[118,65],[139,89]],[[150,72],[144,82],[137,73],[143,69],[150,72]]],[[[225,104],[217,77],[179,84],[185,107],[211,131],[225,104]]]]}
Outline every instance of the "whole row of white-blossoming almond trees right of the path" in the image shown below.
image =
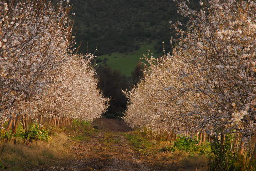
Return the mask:
{"type": "MultiPolygon", "coordinates": [[[[163,109],[167,110],[164,114],[169,116],[167,121],[181,123],[181,129],[203,130],[222,140],[223,134],[233,133],[240,137],[240,147],[243,147],[246,140],[255,135],[256,126],[256,3],[209,0],[200,1],[200,5],[201,10],[196,11],[190,9],[185,1],[178,2],[178,12],[190,19],[185,25],[186,30],[180,29],[180,22],[174,24],[180,38],[176,39],[171,60],[165,58],[157,66],[151,66],[150,76],[129,94],[130,104],[125,118],[132,125],[149,126],[154,123],[151,125],[156,127],[162,122],[159,119],[161,115],[156,114],[163,109]],[[161,65],[164,68],[168,66],[171,75],[165,69],[156,75],[161,65]],[[165,85],[168,79],[170,87],[165,85]],[[171,91],[173,88],[175,91],[171,91]],[[166,97],[174,96],[179,100],[176,105],[184,106],[185,110],[174,104],[169,109],[164,108],[162,104],[170,103],[172,99],[165,99],[161,89],[166,89],[166,97]],[[147,97],[143,91],[154,93],[147,94],[147,97]],[[158,99],[163,102],[159,103],[158,99]],[[140,104],[151,103],[150,107],[138,106],[139,101],[143,102],[140,104]],[[153,109],[157,109],[154,117],[149,117],[153,109]],[[144,114],[136,117],[130,110],[138,110],[136,113],[143,111],[144,114]],[[172,111],[178,117],[173,116],[172,111]]],[[[166,129],[165,126],[162,129],[166,129]]],[[[252,159],[255,156],[256,150],[252,159]]]]}

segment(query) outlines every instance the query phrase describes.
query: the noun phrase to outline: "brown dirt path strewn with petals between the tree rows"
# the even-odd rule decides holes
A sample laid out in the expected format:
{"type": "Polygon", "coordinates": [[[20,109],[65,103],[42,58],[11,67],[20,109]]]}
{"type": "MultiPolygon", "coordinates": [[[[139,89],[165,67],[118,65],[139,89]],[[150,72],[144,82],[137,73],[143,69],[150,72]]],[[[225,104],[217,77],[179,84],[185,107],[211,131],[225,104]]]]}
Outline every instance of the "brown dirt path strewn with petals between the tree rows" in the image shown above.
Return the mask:
{"type": "Polygon", "coordinates": [[[44,170],[149,170],[145,156],[135,151],[124,137],[130,128],[111,120],[97,120],[94,125],[100,132],[72,147],[74,159],[44,170]]]}

